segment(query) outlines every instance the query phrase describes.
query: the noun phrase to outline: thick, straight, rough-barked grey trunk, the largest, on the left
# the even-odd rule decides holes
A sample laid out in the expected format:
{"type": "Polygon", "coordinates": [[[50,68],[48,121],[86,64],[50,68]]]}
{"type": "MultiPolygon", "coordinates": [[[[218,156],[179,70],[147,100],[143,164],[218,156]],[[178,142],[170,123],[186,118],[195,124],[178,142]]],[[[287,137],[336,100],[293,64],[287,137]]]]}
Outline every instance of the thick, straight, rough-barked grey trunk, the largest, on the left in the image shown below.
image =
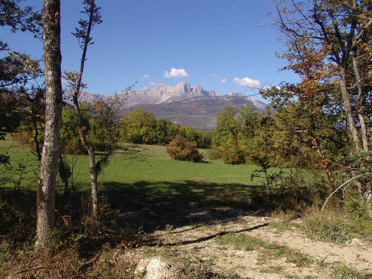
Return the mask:
{"type": "Polygon", "coordinates": [[[44,0],[45,131],[37,190],[36,244],[48,246],[55,224],[55,180],[62,122],[60,0],[44,0]]]}

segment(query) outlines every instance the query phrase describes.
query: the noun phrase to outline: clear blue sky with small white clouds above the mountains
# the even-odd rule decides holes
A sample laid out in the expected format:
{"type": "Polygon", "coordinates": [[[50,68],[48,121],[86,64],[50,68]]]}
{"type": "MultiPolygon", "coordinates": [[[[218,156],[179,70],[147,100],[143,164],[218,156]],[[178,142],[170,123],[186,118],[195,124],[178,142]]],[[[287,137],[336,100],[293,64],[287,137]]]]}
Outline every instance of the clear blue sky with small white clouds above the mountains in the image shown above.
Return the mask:
{"type": "MultiPolygon", "coordinates": [[[[42,1],[26,4],[40,9],[42,1]]],[[[281,51],[278,34],[260,27],[259,22],[270,22],[266,16],[273,11],[270,0],[96,0],[96,4],[102,7],[103,23],[94,27],[94,44],[87,51],[83,82],[88,92],[110,95],[135,81],[134,89],[187,81],[226,94],[243,92],[250,83],[298,81],[291,72],[278,72],[286,63],[275,57],[275,51],[281,51]]],[[[83,16],[82,7],[80,0],[61,0],[62,70],[78,70],[80,65],[81,49],[71,32],[83,16]]],[[[41,58],[42,42],[31,34],[0,30],[12,49],[41,58]]]]}

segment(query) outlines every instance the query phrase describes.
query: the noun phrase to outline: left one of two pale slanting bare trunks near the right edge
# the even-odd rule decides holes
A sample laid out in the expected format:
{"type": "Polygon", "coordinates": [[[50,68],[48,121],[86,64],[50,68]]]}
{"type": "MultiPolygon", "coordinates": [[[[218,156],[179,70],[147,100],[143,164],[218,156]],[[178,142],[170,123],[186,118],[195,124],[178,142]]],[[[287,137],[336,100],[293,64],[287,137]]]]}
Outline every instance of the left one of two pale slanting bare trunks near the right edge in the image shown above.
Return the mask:
{"type": "Polygon", "coordinates": [[[355,148],[357,151],[359,151],[361,148],[360,137],[359,137],[358,129],[356,127],[355,120],[353,117],[353,111],[350,105],[349,92],[347,91],[346,71],[341,65],[339,65],[339,71],[340,71],[340,90],[341,90],[342,99],[344,101],[344,108],[346,112],[347,122],[349,124],[350,132],[353,135],[355,148]]]}

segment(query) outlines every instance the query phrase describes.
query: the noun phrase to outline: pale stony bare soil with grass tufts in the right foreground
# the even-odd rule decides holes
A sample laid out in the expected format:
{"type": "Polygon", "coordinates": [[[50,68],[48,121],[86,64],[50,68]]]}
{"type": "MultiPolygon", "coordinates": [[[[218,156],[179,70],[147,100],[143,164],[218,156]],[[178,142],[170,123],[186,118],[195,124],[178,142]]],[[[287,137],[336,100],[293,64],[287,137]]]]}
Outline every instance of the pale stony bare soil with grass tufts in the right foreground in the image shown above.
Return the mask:
{"type": "Polygon", "coordinates": [[[296,224],[300,219],[278,230],[270,225],[275,219],[264,212],[180,205],[170,214],[161,210],[164,214],[134,212],[126,218],[133,221],[135,216],[142,224],[161,221],[161,230],[153,233],[158,244],[150,254],[176,266],[193,257],[209,263],[222,278],[372,278],[370,243],[311,240],[296,224]]]}

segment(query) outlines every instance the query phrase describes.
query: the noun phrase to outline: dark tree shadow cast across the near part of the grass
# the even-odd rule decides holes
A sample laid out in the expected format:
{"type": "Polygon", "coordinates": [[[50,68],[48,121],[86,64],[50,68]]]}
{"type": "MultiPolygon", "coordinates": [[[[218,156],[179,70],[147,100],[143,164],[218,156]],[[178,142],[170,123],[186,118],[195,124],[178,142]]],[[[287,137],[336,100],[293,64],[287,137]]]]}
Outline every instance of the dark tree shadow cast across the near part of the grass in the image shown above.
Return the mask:
{"type": "Polygon", "coordinates": [[[103,194],[121,212],[121,225],[145,231],[173,225],[212,225],[253,214],[263,204],[258,186],[180,182],[106,182],[103,194]]]}

